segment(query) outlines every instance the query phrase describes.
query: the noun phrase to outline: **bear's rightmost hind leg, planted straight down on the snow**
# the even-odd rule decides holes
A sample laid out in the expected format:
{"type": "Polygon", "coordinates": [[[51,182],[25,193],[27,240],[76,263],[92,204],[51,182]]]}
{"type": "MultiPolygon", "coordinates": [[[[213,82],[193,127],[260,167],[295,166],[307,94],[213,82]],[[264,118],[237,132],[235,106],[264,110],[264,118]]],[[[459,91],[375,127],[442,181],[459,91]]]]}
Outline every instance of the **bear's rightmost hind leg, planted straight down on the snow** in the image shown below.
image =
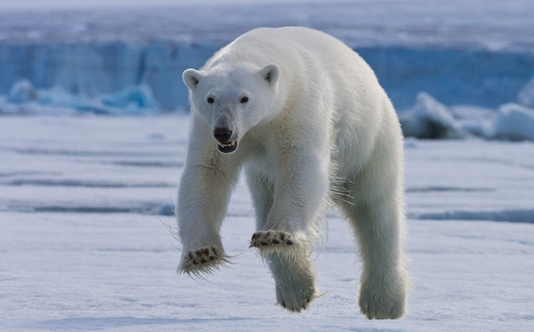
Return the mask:
{"type": "Polygon", "coordinates": [[[339,202],[354,227],[364,265],[358,303],[367,319],[399,319],[409,288],[401,188],[382,186],[366,170],[361,173],[345,186],[353,202],[339,202]]]}

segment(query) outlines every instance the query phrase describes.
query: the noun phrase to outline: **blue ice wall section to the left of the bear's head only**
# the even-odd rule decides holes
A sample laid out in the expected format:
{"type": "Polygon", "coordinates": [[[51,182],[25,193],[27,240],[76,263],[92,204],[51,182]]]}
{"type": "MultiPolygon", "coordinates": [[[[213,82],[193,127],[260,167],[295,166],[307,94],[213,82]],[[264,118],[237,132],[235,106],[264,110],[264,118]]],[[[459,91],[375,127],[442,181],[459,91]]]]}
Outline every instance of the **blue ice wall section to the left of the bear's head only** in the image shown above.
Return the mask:
{"type": "MultiPolygon", "coordinates": [[[[72,98],[148,88],[160,111],[185,110],[188,90],[181,73],[189,67],[202,66],[216,49],[212,45],[163,41],[139,45],[0,43],[0,61],[4,62],[0,66],[0,94],[21,81],[30,81],[38,89],[60,88],[72,98]]],[[[130,113],[128,107],[124,106],[124,112],[130,113]]]]}

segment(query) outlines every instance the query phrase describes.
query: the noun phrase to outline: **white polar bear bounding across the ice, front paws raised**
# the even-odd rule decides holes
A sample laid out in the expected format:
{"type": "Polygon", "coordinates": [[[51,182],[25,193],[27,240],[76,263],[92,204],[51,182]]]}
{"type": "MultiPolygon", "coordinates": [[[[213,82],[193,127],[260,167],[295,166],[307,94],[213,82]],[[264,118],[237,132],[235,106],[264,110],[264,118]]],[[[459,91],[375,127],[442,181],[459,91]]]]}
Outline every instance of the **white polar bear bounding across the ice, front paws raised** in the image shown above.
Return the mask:
{"type": "Polygon", "coordinates": [[[405,312],[409,275],[401,127],[373,70],[352,49],[307,28],[261,28],[187,69],[191,127],[177,217],[178,271],[224,265],[219,230],[242,167],[256,211],[256,247],[290,311],[318,298],[310,248],[337,205],[363,260],[368,319],[405,312]]]}

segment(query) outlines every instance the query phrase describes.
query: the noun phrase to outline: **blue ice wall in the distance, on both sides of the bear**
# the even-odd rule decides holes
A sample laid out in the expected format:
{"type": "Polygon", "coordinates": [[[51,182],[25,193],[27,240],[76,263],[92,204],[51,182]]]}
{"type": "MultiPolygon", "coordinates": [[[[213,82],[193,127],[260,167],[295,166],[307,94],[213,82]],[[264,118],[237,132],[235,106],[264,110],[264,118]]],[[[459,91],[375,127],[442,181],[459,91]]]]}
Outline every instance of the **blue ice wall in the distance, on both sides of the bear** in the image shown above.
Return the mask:
{"type": "MultiPolygon", "coordinates": [[[[61,88],[95,97],[150,88],[162,110],[187,110],[181,73],[199,68],[219,45],[153,40],[75,44],[0,43],[0,94],[28,80],[37,89],[61,88]]],[[[474,49],[361,48],[395,107],[410,108],[420,91],[447,105],[496,108],[516,102],[534,76],[534,53],[474,49]]],[[[522,97],[523,99],[526,96],[522,97]]]]}

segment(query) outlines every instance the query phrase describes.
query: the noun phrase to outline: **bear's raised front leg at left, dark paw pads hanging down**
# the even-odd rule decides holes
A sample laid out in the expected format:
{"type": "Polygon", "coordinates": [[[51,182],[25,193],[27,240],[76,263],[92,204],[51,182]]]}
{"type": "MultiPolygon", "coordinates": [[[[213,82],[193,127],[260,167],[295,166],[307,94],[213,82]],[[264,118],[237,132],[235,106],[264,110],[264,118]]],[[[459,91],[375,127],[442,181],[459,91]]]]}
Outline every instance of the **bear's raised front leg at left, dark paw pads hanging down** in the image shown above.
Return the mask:
{"type": "MultiPolygon", "coordinates": [[[[200,144],[189,148],[181,177],[177,216],[183,246],[179,273],[199,276],[227,262],[219,230],[239,167],[235,159],[200,144]]],[[[213,144],[208,145],[213,148],[213,144]]]]}

